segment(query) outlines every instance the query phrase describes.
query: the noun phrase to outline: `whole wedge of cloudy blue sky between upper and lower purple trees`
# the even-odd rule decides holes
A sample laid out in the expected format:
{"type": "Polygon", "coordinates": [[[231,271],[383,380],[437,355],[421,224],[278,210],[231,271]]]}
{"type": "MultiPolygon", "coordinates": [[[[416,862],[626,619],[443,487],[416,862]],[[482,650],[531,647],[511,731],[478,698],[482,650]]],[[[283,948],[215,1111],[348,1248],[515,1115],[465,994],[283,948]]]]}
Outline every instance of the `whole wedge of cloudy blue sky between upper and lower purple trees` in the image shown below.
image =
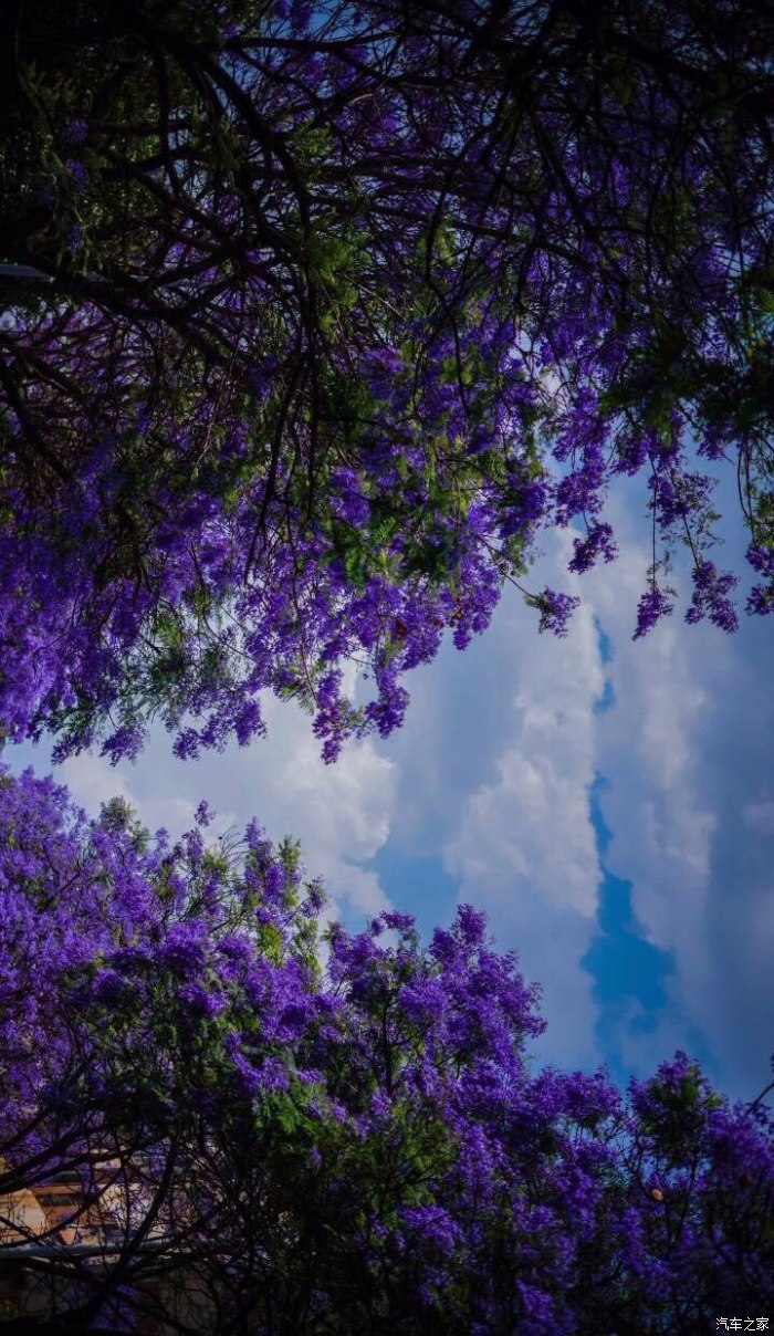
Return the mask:
{"type": "MultiPolygon", "coordinates": [[[[545,538],[535,585],[584,596],[564,641],[509,592],[465,653],[410,675],[400,733],[334,767],[269,701],[245,751],[183,764],[158,733],[135,766],[59,775],[86,807],[123,792],[172,832],[206,798],[223,827],[298,836],[353,927],[392,904],[429,934],[471,900],[541,985],[545,1061],[623,1082],[683,1047],[750,1098],[774,1049],[773,625],[725,637],[675,613],[632,644],[647,533],[615,508],[622,557],[580,582],[561,573],[571,536],[545,538]]],[[[741,548],[730,525],[729,561],[741,548]]],[[[45,747],[7,759],[49,770],[45,747]]]]}

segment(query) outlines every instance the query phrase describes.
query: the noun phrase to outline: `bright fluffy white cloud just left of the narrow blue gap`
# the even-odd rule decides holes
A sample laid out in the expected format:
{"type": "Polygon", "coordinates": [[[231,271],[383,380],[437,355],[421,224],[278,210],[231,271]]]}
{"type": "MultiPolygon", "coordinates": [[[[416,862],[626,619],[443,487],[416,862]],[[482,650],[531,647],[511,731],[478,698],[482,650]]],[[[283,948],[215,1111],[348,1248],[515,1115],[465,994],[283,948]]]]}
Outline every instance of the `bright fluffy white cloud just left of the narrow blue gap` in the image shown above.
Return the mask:
{"type": "MultiPolygon", "coordinates": [[[[567,546],[555,552],[557,565],[567,546]]],[[[590,787],[604,672],[588,608],[563,641],[532,635],[525,643],[527,631],[527,609],[509,599],[497,637],[517,671],[495,776],[464,799],[444,864],[459,878],[460,896],[487,910],[499,945],[515,946],[525,975],[540,982],[549,1021],[540,1051],[591,1065],[595,1010],[580,961],[600,878],[590,787]]]]}

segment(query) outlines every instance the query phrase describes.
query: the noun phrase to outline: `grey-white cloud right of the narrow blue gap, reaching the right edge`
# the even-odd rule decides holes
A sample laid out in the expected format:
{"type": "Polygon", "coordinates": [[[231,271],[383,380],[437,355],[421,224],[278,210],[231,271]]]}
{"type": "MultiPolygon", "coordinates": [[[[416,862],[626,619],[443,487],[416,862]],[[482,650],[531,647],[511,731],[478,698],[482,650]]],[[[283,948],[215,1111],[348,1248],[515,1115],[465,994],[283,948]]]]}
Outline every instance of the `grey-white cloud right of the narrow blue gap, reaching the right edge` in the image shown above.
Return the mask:
{"type": "Polygon", "coordinates": [[[771,716],[761,625],[738,637],[688,628],[679,612],[631,644],[631,609],[647,564],[622,516],[624,557],[614,580],[591,577],[598,616],[615,644],[610,676],[618,708],[599,719],[599,766],[611,786],[604,819],[610,870],[632,882],[643,935],[675,971],[651,1033],[619,1026],[622,1058],[652,1067],[675,1046],[704,1049],[719,1079],[753,1093],[765,1073],[774,990],[754,958],[771,941],[773,900],[755,874],[757,836],[774,834],[774,803],[759,784],[771,716]],[[751,648],[750,648],[751,647],[751,648]],[[755,792],[755,788],[754,788],[755,792]],[[755,927],[753,929],[753,925],[755,927]]]}

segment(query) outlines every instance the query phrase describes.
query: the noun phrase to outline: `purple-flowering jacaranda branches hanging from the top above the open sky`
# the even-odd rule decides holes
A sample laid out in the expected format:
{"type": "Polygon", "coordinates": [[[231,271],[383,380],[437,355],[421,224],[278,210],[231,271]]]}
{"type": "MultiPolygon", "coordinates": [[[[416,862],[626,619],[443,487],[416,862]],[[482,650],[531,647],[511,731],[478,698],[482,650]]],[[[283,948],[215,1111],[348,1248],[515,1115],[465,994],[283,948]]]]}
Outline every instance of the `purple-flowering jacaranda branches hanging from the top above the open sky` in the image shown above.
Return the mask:
{"type": "MultiPolygon", "coordinates": [[[[25,0],[0,112],[0,721],[132,755],[298,696],[332,759],[483,631],[541,528],[671,611],[773,607],[759,0],[25,0]],[[341,669],[373,700],[357,709],[341,669]]],[[[527,589],[561,633],[573,599],[527,589]]],[[[635,616],[632,609],[632,627],[635,616]]]]}

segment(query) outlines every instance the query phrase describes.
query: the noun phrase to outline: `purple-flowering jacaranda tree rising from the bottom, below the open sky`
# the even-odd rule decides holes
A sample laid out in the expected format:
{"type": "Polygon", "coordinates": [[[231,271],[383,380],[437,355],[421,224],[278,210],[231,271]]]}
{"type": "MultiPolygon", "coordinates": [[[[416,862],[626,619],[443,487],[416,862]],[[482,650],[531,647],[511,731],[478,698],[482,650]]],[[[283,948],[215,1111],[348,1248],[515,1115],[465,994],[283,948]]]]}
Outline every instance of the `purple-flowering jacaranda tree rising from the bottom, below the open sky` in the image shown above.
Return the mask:
{"type": "Polygon", "coordinates": [[[0,778],[9,1328],[655,1336],[770,1312],[763,1100],[731,1108],[684,1054],[626,1101],[536,1066],[536,989],[469,906],[429,947],[401,914],[333,925],[321,969],[298,851],[198,822],[171,846],[120,802],[87,820],[0,778]],[[49,1184],[64,1218],[25,1225],[49,1184]]]}

